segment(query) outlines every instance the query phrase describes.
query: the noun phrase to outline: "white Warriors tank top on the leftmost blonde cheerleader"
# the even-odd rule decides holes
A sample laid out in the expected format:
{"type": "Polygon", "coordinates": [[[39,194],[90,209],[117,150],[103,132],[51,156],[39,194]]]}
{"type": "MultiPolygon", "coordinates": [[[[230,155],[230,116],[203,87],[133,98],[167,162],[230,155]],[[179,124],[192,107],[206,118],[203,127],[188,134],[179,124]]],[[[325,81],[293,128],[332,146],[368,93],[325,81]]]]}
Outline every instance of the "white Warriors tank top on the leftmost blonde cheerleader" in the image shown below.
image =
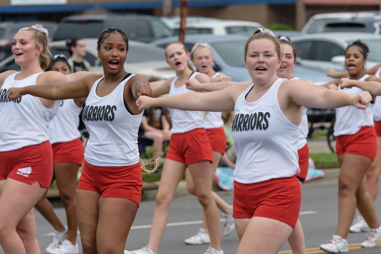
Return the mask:
{"type": "Polygon", "coordinates": [[[41,74],[36,73],[21,80],[14,80],[19,73],[9,75],[0,89],[0,152],[13,151],[49,140],[48,125],[58,111],[58,102],[54,103],[52,108],[46,108],[40,98],[29,94],[11,101],[8,97],[9,88],[35,85],[37,76],[41,74]]]}

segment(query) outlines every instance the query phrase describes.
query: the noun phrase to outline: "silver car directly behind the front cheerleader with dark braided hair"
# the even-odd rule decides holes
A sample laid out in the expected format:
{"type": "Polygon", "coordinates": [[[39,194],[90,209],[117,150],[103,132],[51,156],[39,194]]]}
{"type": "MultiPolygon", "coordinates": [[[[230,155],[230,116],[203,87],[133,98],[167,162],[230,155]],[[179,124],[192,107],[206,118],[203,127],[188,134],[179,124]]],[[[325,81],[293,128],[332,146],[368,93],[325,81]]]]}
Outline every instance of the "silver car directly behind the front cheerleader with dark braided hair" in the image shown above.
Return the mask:
{"type": "MultiPolygon", "coordinates": [[[[84,59],[90,62],[91,71],[103,71],[96,49],[98,39],[90,38],[85,39],[85,41],[87,52],[84,59]]],[[[50,42],[49,47],[53,56],[64,54],[69,57],[66,41],[50,42]]],[[[165,52],[162,48],[139,41],[129,41],[128,48],[127,59],[124,64],[126,71],[145,75],[150,80],[167,79],[176,75],[174,70],[165,62],[165,52]]],[[[6,70],[21,70],[21,67],[14,62],[13,55],[0,62],[0,72],[6,70]]]]}

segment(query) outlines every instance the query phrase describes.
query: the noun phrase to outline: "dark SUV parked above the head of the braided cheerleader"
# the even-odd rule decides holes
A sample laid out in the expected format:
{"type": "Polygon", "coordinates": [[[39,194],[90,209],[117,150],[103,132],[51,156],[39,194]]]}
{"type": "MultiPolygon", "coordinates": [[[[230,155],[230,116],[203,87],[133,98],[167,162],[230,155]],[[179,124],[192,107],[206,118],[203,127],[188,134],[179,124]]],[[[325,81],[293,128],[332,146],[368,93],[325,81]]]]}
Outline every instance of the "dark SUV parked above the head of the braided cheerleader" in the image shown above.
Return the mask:
{"type": "Polygon", "coordinates": [[[68,16],[61,19],[54,40],[72,37],[98,38],[109,27],[126,33],[129,39],[150,42],[168,37],[171,30],[158,17],[144,14],[87,14],[68,16]]]}

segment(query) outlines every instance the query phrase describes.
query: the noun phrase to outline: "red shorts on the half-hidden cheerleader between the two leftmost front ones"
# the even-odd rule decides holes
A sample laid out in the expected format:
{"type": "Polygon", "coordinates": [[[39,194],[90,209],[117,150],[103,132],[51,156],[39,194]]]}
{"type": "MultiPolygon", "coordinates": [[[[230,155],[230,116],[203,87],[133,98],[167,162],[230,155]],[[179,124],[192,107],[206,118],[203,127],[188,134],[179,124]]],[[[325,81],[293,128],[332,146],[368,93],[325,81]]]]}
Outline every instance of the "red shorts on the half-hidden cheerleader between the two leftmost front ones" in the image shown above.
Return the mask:
{"type": "Polygon", "coordinates": [[[54,143],[51,145],[51,148],[53,148],[54,163],[69,162],[78,165],[83,164],[85,149],[80,138],[63,143],[54,143]]]}

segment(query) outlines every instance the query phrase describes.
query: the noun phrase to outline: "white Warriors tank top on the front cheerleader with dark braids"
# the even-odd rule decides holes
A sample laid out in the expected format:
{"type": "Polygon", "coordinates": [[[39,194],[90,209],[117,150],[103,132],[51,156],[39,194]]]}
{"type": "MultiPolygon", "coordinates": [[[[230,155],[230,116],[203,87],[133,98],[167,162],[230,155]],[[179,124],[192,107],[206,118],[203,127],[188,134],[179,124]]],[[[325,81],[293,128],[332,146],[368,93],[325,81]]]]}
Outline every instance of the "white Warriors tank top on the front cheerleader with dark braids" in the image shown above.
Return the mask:
{"type": "Polygon", "coordinates": [[[124,104],[124,86],[132,76],[121,81],[104,97],[96,95],[98,79],[86,99],[82,120],[90,134],[85,160],[94,166],[120,167],[139,162],[138,129],[142,114],[132,115],[124,104]]]}

